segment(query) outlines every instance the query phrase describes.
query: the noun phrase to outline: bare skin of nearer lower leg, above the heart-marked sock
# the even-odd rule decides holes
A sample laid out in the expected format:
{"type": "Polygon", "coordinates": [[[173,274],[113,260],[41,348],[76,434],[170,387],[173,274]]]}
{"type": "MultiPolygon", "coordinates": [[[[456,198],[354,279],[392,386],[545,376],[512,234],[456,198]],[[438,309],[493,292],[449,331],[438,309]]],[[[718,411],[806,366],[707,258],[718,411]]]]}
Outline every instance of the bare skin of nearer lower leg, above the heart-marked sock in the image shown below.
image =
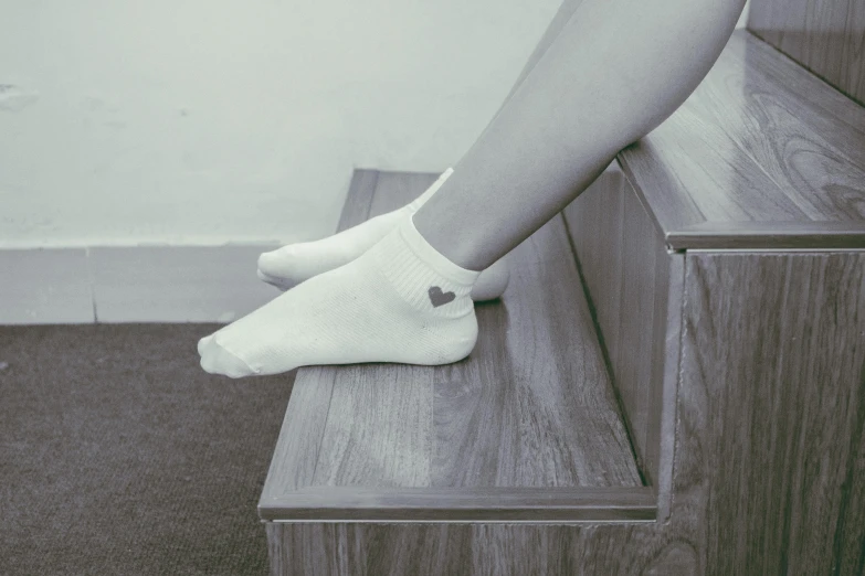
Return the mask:
{"type": "Polygon", "coordinates": [[[481,270],[560,212],[711,68],[745,0],[583,0],[454,173],[414,215],[481,270]]]}

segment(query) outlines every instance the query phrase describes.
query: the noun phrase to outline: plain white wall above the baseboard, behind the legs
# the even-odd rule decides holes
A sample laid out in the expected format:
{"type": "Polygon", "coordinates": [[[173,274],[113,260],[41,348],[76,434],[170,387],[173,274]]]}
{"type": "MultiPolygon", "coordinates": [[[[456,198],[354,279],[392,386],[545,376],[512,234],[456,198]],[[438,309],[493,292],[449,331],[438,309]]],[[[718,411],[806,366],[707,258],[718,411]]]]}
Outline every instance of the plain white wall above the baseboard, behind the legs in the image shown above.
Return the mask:
{"type": "Polygon", "coordinates": [[[0,0],[0,247],[296,242],[441,171],[559,0],[0,0]]]}

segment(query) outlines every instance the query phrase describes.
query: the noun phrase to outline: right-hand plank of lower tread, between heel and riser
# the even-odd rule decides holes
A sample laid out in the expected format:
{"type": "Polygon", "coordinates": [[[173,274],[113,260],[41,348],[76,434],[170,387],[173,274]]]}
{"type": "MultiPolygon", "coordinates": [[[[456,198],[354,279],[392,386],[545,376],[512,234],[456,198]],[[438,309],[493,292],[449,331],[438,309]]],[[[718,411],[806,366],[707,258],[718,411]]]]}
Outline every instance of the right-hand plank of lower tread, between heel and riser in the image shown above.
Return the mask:
{"type": "Polygon", "coordinates": [[[573,257],[534,259],[547,234],[563,244],[560,218],[509,255],[474,358],[436,372],[433,486],[640,483],[573,257]]]}

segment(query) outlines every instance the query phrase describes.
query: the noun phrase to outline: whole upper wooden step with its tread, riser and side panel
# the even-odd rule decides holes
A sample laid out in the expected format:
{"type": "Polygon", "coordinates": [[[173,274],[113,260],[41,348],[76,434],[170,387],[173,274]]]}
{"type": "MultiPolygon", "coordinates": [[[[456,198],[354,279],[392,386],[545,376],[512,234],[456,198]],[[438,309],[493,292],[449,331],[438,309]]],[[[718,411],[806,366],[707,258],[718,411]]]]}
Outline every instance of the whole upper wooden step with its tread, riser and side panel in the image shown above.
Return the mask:
{"type": "Polygon", "coordinates": [[[709,574],[857,573],[865,108],[739,31],[618,171],[565,216],[666,534],[709,574]]]}

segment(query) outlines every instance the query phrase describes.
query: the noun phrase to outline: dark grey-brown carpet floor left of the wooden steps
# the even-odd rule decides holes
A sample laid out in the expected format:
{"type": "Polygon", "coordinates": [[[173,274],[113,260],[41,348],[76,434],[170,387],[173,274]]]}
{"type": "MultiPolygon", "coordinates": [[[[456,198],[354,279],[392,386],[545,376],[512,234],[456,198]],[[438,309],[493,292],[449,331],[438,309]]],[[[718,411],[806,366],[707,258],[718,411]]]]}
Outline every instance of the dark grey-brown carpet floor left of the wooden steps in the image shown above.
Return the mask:
{"type": "Polygon", "coordinates": [[[0,327],[0,575],[264,575],[294,373],[199,366],[218,324],[0,327]]]}

